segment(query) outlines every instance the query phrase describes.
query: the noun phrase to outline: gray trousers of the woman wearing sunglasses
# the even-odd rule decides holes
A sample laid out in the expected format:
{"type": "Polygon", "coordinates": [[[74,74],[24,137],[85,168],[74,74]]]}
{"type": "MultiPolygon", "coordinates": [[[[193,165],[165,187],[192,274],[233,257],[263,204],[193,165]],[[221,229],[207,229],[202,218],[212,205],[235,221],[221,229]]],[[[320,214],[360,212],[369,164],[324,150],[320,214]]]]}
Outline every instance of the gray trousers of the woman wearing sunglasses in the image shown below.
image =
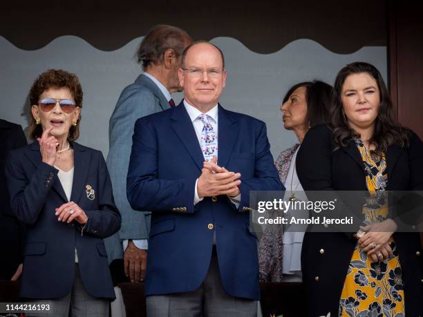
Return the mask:
{"type": "MultiPolygon", "coordinates": [[[[28,302],[29,303],[29,302],[28,302]]],[[[55,317],[107,317],[109,316],[109,300],[95,298],[88,294],[82,284],[78,265],[75,264],[75,280],[71,293],[55,300],[35,300],[32,304],[48,304],[49,311],[27,311],[30,316],[55,316],[55,317]]]]}

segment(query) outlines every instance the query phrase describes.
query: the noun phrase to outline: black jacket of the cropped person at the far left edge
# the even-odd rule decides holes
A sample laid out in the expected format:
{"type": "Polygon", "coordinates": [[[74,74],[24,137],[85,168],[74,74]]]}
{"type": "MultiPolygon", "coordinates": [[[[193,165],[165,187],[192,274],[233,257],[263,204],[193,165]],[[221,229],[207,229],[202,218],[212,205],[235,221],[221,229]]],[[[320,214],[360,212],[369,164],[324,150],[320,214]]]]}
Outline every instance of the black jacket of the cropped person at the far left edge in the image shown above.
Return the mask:
{"type": "Polygon", "coordinates": [[[4,167],[8,153],[24,145],[26,138],[21,126],[0,119],[0,280],[10,280],[22,262],[26,230],[10,209],[4,167]]]}

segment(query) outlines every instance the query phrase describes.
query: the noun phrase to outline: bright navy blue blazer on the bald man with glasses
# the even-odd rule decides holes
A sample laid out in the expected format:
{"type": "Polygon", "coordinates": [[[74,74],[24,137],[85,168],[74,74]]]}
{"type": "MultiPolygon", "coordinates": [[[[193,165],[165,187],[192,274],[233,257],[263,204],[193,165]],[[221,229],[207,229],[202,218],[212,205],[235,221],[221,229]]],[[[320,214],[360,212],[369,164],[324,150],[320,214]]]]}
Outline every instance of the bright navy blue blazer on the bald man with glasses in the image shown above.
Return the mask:
{"type": "Polygon", "coordinates": [[[205,279],[213,235],[227,294],[259,299],[257,241],[250,232],[250,191],[280,191],[265,124],[218,106],[218,164],[241,173],[238,209],[227,196],[194,206],[204,157],[185,106],[135,123],[127,195],[135,210],[151,210],[145,294],[194,291],[205,279]]]}

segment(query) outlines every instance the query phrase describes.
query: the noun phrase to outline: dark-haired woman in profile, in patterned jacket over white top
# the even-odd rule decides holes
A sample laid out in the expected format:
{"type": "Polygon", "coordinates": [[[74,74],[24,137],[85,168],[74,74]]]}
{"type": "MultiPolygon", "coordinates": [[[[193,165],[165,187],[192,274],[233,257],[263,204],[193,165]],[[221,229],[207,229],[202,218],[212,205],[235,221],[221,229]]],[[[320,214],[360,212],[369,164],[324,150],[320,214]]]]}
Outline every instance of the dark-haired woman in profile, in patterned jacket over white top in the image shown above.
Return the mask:
{"type": "MultiPolygon", "coordinates": [[[[295,171],[295,157],[310,126],[328,119],[332,86],[323,81],[305,81],[292,86],[283,98],[283,126],[297,135],[299,143],[282,151],[276,159],[279,178],[287,189],[286,199],[302,191],[295,171]]],[[[259,277],[263,282],[301,281],[303,232],[265,229],[259,245],[259,277]]]]}

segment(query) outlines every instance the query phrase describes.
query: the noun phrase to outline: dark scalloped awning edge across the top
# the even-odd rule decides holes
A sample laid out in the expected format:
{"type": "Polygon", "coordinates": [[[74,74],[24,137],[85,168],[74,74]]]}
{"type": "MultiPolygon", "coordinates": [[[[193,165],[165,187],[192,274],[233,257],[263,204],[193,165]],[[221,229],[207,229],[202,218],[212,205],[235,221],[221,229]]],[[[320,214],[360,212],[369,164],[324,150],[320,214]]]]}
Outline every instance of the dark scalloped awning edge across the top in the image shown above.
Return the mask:
{"type": "Polygon", "coordinates": [[[332,52],[386,46],[386,1],[13,1],[0,5],[0,35],[36,50],[62,35],[117,50],[158,23],[194,39],[234,37],[254,52],[312,39],[332,52]]]}

